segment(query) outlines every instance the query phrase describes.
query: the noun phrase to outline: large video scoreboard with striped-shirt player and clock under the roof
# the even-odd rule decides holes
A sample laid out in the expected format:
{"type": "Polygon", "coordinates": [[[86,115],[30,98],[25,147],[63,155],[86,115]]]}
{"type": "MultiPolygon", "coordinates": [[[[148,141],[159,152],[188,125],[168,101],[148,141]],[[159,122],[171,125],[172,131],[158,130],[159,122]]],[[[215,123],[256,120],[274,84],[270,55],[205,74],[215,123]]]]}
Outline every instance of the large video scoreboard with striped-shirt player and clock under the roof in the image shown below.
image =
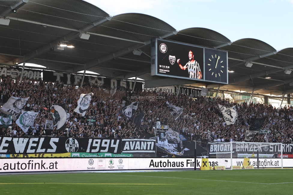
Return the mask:
{"type": "Polygon", "coordinates": [[[228,52],[153,39],[151,75],[228,84],[228,52]]]}

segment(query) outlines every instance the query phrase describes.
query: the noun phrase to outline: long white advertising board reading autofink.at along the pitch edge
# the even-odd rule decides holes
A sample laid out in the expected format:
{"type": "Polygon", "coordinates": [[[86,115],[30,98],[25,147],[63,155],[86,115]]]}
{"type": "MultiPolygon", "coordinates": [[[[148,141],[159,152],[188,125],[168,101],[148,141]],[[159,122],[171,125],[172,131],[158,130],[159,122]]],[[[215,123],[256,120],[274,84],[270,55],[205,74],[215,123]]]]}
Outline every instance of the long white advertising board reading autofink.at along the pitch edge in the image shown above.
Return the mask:
{"type": "MultiPolygon", "coordinates": [[[[208,166],[220,166],[219,159],[209,158],[208,166]]],[[[224,161],[225,159],[221,159],[224,161]]],[[[231,159],[222,165],[230,168],[231,159]]],[[[256,168],[257,159],[250,159],[256,168]]],[[[194,158],[0,158],[0,173],[49,171],[104,171],[104,170],[159,170],[194,169],[194,158]]],[[[242,166],[243,158],[234,158],[233,164],[242,166]]],[[[280,158],[260,158],[259,167],[281,167],[280,158]]],[[[293,167],[293,159],[283,159],[283,167],[293,167]]],[[[196,159],[196,168],[201,158],[196,159]]]]}

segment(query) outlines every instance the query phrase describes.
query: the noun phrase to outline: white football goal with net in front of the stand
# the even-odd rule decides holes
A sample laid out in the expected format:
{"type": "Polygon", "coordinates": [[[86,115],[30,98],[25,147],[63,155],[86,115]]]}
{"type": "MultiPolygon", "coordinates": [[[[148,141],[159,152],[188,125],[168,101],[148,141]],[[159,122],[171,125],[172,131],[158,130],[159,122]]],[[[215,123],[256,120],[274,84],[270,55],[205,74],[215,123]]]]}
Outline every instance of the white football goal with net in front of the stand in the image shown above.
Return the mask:
{"type": "Polygon", "coordinates": [[[282,143],[214,143],[218,166],[225,169],[283,168],[282,143]]]}

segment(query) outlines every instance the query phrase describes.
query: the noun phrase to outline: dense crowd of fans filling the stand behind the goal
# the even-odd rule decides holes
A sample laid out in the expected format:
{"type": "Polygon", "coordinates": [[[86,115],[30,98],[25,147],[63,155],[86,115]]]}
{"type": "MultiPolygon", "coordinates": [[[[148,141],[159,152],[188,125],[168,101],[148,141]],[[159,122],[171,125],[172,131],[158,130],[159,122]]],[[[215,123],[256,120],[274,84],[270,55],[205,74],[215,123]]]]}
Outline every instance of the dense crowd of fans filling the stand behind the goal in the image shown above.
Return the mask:
{"type": "MultiPolygon", "coordinates": [[[[136,90],[125,95],[107,92],[109,89],[91,87],[85,83],[82,88],[65,86],[62,82],[43,82],[23,78],[15,81],[9,76],[2,77],[0,93],[2,105],[10,97],[28,98],[23,110],[38,112],[35,121],[24,132],[13,120],[7,128],[2,128],[1,136],[53,136],[53,137],[95,137],[95,138],[122,138],[137,139],[155,136],[155,125],[168,125],[187,140],[208,142],[245,141],[245,133],[250,128],[253,118],[265,118],[262,128],[270,130],[268,134],[255,134],[250,142],[292,143],[292,106],[277,109],[262,103],[236,103],[229,99],[189,96],[154,91],[136,90]],[[82,116],[74,112],[81,94],[93,93],[89,109],[82,116]],[[132,97],[156,96],[158,99],[131,99],[132,97]],[[140,126],[128,120],[120,113],[122,107],[139,101],[136,115],[145,113],[140,126]],[[168,112],[167,104],[183,108],[182,114],[175,120],[168,112]],[[64,128],[57,129],[50,107],[65,104],[69,119],[64,128]],[[226,107],[236,106],[238,123],[227,125],[221,114],[218,104],[226,107]],[[94,116],[94,125],[89,125],[87,116],[94,116]],[[46,126],[46,120],[54,121],[53,128],[46,126]],[[274,135],[277,130],[280,134],[274,135]]],[[[126,89],[127,91],[127,89],[126,89]]]]}

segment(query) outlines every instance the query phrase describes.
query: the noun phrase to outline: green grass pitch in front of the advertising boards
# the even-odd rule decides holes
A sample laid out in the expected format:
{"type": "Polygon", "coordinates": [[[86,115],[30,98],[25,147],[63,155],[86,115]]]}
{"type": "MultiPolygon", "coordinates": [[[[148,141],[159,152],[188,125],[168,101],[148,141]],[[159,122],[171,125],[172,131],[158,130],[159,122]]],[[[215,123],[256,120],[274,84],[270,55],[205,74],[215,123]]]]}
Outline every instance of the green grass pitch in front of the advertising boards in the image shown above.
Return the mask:
{"type": "Polygon", "coordinates": [[[0,194],[292,194],[293,169],[0,175],[0,194]]]}

